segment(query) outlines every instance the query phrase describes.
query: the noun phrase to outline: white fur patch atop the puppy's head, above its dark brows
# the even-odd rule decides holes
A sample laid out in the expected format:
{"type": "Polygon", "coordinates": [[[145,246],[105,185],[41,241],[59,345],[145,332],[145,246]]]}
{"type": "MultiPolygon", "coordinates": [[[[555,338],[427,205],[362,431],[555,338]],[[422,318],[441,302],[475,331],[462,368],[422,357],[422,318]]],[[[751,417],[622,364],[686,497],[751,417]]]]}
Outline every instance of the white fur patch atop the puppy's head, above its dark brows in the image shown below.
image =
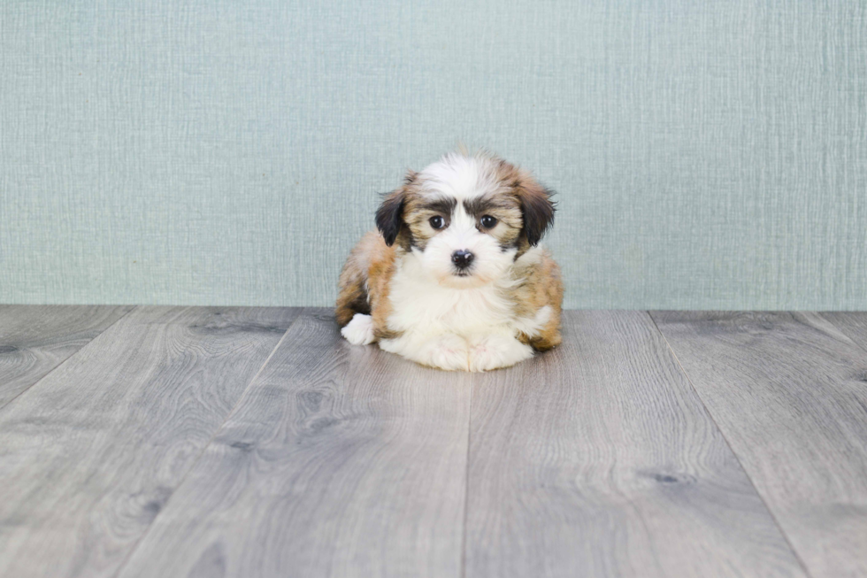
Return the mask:
{"type": "Polygon", "coordinates": [[[490,163],[487,158],[446,155],[419,173],[422,189],[430,194],[450,195],[458,201],[479,197],[495,188],[490,163]]]}

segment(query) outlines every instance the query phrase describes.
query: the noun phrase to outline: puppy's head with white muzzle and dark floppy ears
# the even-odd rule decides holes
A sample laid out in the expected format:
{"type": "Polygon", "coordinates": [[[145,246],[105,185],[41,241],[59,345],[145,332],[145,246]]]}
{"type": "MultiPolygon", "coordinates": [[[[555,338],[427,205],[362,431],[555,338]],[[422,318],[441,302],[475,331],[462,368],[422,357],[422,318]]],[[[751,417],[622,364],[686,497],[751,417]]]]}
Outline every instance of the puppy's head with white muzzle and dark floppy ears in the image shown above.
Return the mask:
{"type": "Polygon", "coordinates": [[[411,251],[441,284],[477,287],[539,243],[554,220],[552,194],[500,158],[451,153],[407,173],[376,224],[388,245],[411,251]]]}

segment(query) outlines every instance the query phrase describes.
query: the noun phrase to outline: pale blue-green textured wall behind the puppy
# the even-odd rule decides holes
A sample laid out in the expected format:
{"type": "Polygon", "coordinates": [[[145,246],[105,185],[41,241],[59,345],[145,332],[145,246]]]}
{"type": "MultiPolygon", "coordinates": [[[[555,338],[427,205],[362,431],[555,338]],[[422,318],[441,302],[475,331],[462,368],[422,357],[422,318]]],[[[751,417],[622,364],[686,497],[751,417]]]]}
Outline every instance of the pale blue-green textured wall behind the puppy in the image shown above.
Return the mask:
{"type": "Polygon", "coordinates": [[[867,309],[863,1],[286,4],[0,3],[0,302],[330,304],[464,139],[570,307],[867,309]]]}

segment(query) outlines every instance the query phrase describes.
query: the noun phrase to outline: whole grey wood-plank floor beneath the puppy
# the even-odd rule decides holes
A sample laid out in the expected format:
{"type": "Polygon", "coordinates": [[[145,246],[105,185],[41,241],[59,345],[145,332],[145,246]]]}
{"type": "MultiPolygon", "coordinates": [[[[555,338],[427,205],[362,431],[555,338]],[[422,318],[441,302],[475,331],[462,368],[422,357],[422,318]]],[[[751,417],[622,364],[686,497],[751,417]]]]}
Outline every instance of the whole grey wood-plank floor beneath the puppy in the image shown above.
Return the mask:
{"type": "Polygon", "coordinates": [[[0,306],[2,576],[867,576],[867,314],[567,312],[450,374],[323,309],[0,306]]]}

